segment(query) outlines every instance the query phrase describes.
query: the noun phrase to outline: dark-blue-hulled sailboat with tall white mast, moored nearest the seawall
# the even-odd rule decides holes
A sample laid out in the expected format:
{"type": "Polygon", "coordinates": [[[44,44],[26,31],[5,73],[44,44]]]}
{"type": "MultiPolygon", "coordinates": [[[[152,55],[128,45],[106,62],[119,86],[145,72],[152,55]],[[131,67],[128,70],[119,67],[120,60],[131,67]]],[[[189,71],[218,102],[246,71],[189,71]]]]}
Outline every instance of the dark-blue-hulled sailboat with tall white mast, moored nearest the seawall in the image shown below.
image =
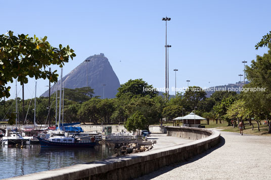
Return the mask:
{"type": "MultiPolygon", "coordinates": [[[[80,137],[71,137],[65,136],[65,131],[60,130],[60,121],[61,121],[61,97],[62,97],[62,72],[61,69],[61,79],[60,79],[60,99],[59,99],[59,118],[58,118],[58,127],[56,131],[50,131],[49,138],[36,137],[39,140],[41,147],[94,147],[96,142],[94,138],[91,140],[83,140],[80,137]]],[[[90,136],[89,136],[90,137],[90,136]]]]}

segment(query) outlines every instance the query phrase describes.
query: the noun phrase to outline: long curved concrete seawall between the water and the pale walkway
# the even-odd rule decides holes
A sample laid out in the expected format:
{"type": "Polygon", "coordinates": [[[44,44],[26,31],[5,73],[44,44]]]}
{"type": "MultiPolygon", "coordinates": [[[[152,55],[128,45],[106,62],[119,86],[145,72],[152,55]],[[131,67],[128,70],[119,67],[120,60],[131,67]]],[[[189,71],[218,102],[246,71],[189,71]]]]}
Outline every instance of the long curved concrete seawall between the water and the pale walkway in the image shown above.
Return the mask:
{"type": "MultiPolygon", "coordinates": [[[[131,179],[148,174],[163,166],[182,162],[200,154],[219,142],[220,134],[198,128],[166,127],[168,136],[185,137],[195,141],[146,151],[123,157],[78,164],[60,169],[12,177],[10,179],[131,179]],[[202,139],[200,139],[200,137],[202,139]],[[196,140],[198,139],[198,140],[196,140]]],[[[44,159],[46,160],[46,159],[44,159]]]]}

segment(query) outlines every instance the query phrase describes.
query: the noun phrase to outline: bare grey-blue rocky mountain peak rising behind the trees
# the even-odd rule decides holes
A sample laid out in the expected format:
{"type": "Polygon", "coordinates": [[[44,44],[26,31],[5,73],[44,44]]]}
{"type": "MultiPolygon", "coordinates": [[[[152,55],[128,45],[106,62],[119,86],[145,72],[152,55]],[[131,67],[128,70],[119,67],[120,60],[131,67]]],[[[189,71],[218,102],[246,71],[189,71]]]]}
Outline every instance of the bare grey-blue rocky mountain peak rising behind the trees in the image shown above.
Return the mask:
{"type": "MultiPolygon", "coordinates": [[[[103,98],[104,92],[105,98],[115,97],[120,83],[104,53],[87,57],[80,65],[64,76],[62,79],[64,87],[70,89],[86,87],[87,72],[88,87],[94,89],[94,96],[103,98]]],[[[51,88],[51,93],[55,92],[55,86],[51,88]]],[[[60,81],[57,83],[57,87],[60,88],[60,81]]],[[[49,96],[49,90],[41,96],[49,96]]]]}

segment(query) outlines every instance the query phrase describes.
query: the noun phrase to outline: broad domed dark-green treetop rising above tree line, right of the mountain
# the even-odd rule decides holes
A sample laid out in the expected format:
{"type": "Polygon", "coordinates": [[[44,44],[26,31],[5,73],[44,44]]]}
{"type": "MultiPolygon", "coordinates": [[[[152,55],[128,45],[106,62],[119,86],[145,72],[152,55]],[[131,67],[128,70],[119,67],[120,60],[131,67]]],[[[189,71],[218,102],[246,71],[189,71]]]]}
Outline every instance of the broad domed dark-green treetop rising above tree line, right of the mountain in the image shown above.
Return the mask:
{"type": "Polygon", "coordinates": [[[128,94],[130,96],[134,95],[141,95],[146,96],[149,95],[151,97],[157,96],[157,91],[145,91],[144,88],[150,88],[152,89],[152,85],[148,85],[147,82],[143,81],[142,79],[135,79],[135,80],[129,80],[128,82],[121,84],[118,88],[118,93],[116,94],[116,97],[121,97],[123,94],[128,94]]]}

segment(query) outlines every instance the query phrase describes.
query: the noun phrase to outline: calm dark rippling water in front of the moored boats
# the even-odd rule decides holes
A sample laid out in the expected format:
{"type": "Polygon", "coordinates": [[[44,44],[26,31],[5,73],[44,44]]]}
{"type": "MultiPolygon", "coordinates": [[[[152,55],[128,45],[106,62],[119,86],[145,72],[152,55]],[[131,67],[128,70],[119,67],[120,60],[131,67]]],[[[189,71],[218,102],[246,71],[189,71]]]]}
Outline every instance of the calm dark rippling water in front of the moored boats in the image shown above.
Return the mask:
{"type": "Polygon", "coordinates": [[[40,148],[39,145],[21,149],[0,145],[0,178],[106,159],[113,154],[106,145],[81,149],[40,148]]]}

